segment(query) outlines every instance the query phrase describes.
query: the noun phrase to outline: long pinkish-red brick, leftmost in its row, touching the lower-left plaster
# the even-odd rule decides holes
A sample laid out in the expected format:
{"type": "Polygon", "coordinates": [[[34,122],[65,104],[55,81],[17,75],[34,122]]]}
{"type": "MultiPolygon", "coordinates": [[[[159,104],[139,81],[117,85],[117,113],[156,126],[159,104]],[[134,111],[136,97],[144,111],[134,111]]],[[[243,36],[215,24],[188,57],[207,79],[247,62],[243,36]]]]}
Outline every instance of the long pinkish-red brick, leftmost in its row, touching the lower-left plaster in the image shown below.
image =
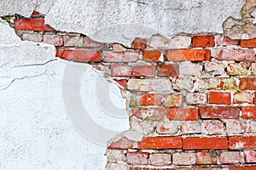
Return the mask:
{"type": "Polygon", "coordinates": [[[99,51],[90,51],[85,49],[57,49],[56,56],[69,61],[101,61],[99,51]]]}

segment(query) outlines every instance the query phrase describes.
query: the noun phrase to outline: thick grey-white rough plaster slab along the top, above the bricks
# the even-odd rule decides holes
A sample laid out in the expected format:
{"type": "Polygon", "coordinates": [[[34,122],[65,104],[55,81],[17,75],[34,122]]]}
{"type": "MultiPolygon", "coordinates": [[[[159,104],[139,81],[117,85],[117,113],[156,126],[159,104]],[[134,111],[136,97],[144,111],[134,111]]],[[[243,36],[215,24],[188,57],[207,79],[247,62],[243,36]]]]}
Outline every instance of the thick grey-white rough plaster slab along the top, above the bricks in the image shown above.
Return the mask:
{"type": "Polygon", "coordinates": [[[81,32],[100,42],[130,46],[134,37],[179,32],[223,32],[228,16],[240,18],[245,0],[57,0],[46,22],[60,31],[81,32]]]}

